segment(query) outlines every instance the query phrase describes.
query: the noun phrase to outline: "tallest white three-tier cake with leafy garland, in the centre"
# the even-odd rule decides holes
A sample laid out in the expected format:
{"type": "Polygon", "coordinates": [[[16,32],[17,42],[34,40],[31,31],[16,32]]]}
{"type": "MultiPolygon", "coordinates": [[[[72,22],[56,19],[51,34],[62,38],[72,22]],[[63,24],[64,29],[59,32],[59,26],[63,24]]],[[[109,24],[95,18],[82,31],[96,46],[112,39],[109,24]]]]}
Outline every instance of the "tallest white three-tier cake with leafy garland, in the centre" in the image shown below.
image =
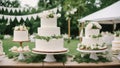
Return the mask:
{"type": "Polygon", "coordinates": [[[53,11],[44,11],[41,16],[41,27],[38,28],[35,48],[38,52],[61,52],[64,48],[64,39],[60,36],[60,27],[57,27],[57,14],[53,11]]]}

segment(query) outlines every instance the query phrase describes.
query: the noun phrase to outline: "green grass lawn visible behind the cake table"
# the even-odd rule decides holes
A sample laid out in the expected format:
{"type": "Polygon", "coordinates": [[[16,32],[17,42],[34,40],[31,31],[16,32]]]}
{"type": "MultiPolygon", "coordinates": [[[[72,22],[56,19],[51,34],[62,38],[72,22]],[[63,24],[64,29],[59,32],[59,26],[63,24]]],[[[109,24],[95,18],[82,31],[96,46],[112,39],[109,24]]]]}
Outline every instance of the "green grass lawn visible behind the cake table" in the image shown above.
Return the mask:
{"type": "MultiPolygon", "coordinates": [[[[6,55],[10,52],[9,49],[12,46],[19,47],[20,45],[19,42],[13,42],[12,39],[4,39],[2,41],[3,41],[4,52],[6,53],[6,55]]],[[[68,55],[75,55],[78,53],[78,51],[76,50],[78,43],[79,43],[79,40],[71,40],[70,43],[67,43],[67,41],[64,42],[65,48],[69,49],[69,52],[67,53],[68,55]]],[[[29,45],[31,50],[32,48],[35,47],[34,42],[23,42],[23,46],[26,46],[26,45],[29,45]]]]}

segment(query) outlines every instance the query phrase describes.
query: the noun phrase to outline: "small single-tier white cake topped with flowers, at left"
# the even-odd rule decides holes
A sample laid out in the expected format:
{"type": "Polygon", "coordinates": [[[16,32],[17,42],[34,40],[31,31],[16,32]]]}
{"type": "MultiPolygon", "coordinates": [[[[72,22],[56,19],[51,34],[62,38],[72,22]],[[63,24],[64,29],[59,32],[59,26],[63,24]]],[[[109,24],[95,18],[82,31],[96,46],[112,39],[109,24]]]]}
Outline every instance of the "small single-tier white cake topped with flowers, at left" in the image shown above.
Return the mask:
{"type": "Polygon", "coordinates": [[[28,41],[28,30],[25,26],[16,26],[14,29],[13,41],[28,41]]]}

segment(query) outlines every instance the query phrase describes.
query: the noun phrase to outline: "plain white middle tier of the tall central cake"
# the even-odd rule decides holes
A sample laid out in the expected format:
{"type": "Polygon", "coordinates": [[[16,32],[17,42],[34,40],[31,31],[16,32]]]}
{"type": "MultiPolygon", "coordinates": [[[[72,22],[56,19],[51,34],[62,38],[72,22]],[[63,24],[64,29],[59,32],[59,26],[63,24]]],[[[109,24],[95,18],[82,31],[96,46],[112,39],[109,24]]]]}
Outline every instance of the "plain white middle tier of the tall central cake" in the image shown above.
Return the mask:
{"type": "Polygon", "coordinates": [[[44,27],[38,28],[38,35],[40,36],[58,36],[60,35],[60,28],[59,27],[44,27]]]}

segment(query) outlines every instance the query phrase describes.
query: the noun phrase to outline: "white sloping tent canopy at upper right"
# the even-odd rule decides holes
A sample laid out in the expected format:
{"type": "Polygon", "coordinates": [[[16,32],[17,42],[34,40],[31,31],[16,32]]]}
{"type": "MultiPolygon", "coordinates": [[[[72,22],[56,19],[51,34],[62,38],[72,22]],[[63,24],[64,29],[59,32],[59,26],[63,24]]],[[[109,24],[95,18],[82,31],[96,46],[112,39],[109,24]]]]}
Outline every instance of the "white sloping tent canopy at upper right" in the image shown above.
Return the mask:
{"type": "Polygon", "coordinates": [[[79,19],[78,21],[98,21],[99,23],[104,24],[120,23],[120,1],[79,19]]]}

